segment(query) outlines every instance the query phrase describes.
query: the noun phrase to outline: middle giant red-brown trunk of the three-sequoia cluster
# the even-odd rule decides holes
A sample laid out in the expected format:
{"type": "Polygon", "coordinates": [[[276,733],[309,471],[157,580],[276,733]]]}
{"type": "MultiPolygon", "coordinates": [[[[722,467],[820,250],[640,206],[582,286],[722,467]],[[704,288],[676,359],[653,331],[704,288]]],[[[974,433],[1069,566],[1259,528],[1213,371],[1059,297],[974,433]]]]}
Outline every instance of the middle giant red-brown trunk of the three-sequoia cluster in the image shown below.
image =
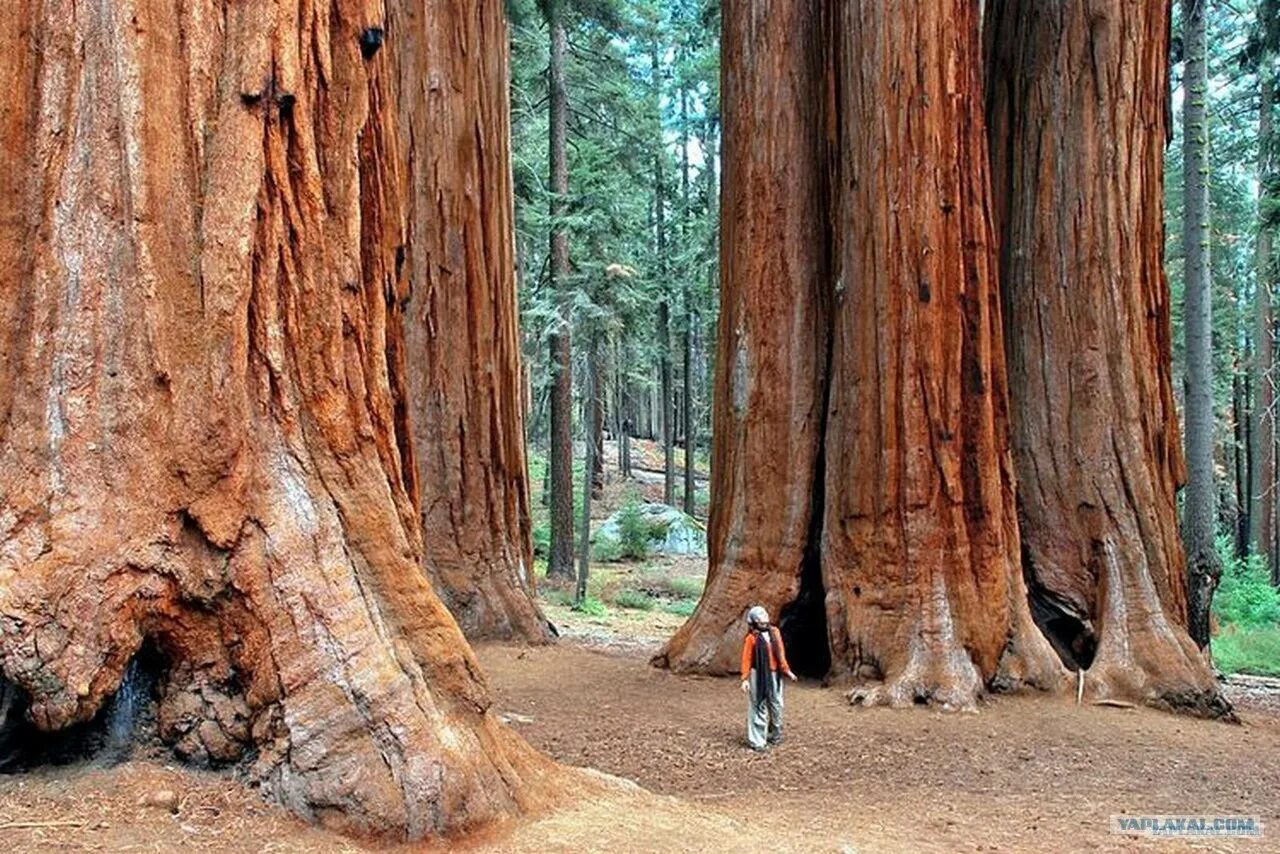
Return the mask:
{"type": "Polygon", "coordinates": [[[823,581],[855,699],[1055,686],[1018,571],[975,4],[836,17],[823,581]]]}

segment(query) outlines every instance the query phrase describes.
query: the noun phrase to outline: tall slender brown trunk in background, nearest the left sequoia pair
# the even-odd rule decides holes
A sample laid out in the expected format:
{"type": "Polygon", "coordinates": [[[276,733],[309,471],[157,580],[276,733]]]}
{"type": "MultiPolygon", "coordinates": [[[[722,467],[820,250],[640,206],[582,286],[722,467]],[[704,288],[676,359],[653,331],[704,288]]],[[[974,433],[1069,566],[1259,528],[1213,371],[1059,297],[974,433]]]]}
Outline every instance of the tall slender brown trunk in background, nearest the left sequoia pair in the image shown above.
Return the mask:
{"type": "Polygon", "coordinates": [[[550,282],[559,316],[550,335],[552,442],[550,442],[550,558],[547,574],[573,575],[573,382],[570,342],[568,233],[564,230],[568,196],[568,96],[564,91],[564,22],[561,4],[552,4],[550,20],[550,174],[552,237],[550,282]]]}

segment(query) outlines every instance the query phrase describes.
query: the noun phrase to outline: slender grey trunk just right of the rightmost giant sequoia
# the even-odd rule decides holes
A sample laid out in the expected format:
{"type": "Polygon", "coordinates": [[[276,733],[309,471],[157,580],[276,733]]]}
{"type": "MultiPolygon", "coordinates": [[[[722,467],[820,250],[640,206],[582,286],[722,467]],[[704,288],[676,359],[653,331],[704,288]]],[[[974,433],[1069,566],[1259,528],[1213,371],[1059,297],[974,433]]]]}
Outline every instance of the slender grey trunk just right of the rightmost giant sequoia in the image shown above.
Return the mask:
{"type": "Polygon", "coordinates": [[[1208,0],[1183,1],[1187,72],[1183,100],[1183,257],[1187,332],[1187,495],[1183,536],[1188,561],[1188,627],[1208,645],[1210,603],[1221,566],[1213,549],[1213,353],[1208,266],[1208,97],[1204,17],[1208,0]]]}

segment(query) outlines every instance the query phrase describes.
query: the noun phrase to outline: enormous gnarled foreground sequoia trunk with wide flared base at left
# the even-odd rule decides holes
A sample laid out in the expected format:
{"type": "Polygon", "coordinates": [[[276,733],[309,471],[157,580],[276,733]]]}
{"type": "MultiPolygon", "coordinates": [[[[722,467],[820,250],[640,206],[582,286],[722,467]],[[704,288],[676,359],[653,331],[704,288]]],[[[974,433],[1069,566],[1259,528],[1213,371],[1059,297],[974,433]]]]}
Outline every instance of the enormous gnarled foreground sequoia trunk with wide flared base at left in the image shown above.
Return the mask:
{"type": "Polygon", "coordinates": [[[383,14],[0,19],[0,668],[56,730],[150,641],[180,755],[420,837],[552,766],[420,571],[383,14]]]}

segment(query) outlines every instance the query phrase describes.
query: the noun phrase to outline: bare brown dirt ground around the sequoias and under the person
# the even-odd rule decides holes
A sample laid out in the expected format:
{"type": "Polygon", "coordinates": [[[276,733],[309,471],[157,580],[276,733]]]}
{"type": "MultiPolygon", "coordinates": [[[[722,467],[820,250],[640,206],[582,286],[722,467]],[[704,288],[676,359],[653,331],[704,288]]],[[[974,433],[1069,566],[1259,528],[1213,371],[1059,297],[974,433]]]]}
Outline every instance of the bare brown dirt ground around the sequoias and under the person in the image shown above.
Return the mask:
{"type": "Polygon", "coordinates": [[[1280,851],[1280,717],[1244,726],[1070,700],[998,698],[977,714],[855,709],[788,688],[786,741],[742,746],[732,680],[648,666],[669,615],[557,613],[550,648],[479,654],[495,711],[575,777],[564,809],[452,846],[379,848],[311,828],[225,777],[159,761],[0,777],[8,851],[1280,851]],[[175,812],[142,803],[177,795],[175,812]],[[1260,814],[1262,840],[1152,841],[1115,813],[1260,814]]]}

